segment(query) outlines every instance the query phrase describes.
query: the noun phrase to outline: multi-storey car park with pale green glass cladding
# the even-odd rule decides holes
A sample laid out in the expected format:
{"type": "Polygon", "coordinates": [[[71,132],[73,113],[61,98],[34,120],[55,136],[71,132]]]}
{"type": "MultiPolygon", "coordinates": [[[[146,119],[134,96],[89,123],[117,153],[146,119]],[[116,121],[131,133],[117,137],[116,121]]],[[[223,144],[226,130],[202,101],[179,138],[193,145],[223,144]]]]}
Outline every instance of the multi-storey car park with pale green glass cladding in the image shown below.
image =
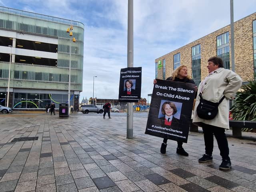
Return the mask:
{"type": "Polygon", "coordinates": [[[58,108],[68,102],[71,74],[70,105],[77,110],[83,55],[84,24],[0,7],[0,104],[6,106],[10,64],[9,107],[43,109],[54,102],[58,108]]]}

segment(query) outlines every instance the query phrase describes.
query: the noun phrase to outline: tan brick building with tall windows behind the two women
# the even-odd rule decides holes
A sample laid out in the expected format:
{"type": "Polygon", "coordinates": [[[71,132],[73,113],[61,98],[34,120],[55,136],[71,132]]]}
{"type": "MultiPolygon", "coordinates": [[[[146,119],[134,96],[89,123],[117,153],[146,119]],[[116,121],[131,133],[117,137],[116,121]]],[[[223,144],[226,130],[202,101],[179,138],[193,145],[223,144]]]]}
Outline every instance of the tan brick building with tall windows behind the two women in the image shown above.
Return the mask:
{"type": "MultiPolygon", "coordinates": [[[[206,77],[208,59],[221,57],[224,67],[230,65],[230,25],[178,48],[155,60],[156,78],[166,79],[180,65],[188,67],[197,85],[206,77]]],[[[256,13],[234,22],[235,72],[244,82],[256,78],[256,13]]]]}

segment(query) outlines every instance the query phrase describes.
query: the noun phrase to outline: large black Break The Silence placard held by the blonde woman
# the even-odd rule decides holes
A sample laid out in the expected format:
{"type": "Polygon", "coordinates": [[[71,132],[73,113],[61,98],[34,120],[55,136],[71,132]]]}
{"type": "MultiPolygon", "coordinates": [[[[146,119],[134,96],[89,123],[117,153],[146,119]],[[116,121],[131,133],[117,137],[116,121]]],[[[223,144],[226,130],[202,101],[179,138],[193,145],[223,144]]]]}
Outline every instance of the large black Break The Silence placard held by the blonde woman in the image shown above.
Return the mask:
{"type": "Polygon", "coordinates": [[[196,93],[193,86],[158,79],[154,84],[145,134],[186,143],[196,93]]]}

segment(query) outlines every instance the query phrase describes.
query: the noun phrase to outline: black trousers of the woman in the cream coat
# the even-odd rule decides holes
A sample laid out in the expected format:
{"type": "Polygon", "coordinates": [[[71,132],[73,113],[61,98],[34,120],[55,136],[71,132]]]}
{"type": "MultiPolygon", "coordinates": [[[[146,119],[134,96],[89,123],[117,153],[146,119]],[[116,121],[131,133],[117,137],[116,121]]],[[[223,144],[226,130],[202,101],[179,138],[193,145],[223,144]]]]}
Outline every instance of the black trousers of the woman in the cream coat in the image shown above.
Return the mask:
{"type": "Polygon", "coordinates": [[[220,156],[222,156],[222,159],[228,160],[229,148],[228,140],[225,134],[225,129],[206,124],[202,126],[202,128],[204,132],[205,153],[208,155],[212,155],[214,134],[218,143],[218,148],[220,150],[220,156]]]}

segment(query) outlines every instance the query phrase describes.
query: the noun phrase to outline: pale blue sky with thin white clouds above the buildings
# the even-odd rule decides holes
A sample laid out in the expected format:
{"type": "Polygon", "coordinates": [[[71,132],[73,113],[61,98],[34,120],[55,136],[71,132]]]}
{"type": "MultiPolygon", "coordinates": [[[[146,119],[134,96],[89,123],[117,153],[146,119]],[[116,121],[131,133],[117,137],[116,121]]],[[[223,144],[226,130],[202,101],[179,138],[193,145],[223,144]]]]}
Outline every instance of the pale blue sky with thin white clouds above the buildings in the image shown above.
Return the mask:
{"type": "MultiPolygon", "coordinates": [[[[76,20],[85,26],[80,98],[118,99],[127,67],[128,0],[0,0],[1,6],[76,20]]],[[[234,21],[256,12],[256,0],[234,0],[234,21]]],[[[154,60],[230,24],[230,0],[134,0],[134,67],[143,98],[153,90],[154,60]]],[[[75,33],[76,30],[74,29],[75,33]]]]}

